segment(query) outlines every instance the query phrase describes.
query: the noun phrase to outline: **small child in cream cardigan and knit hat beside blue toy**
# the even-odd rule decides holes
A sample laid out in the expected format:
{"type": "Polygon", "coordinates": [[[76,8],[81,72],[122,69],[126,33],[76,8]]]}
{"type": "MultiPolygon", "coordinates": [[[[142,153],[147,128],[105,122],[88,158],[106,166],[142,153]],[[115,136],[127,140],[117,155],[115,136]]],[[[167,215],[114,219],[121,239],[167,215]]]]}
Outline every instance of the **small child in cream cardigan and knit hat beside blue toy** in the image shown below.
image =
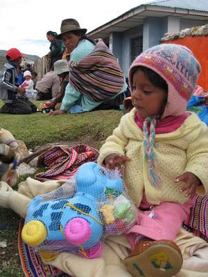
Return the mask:
{"type": "Polygon", "coordinates": [[[140,270],[149,276],[149,259],[153,276],[160,276],[159,259],[177,273],[182,260],[172,241],[195,194],[207,193],[208,129],[186,112],[199,73],[200,64],[184,46],[162,44],[139,55],[129,71],[135,108],[101,148],[98,163],[125,165],[125,185],[141,210],[128,232],[132,248],[139,244],[124,262],[133,276],[140,270]]]}

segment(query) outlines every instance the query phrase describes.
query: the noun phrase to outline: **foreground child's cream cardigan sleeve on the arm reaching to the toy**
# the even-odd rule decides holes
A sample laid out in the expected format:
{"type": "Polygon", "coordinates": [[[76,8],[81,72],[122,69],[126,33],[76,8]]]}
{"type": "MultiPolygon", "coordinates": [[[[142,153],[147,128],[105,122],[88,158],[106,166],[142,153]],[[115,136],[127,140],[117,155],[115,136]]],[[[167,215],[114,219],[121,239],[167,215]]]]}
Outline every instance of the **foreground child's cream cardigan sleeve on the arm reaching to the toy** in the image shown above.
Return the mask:
{"type": "Polygon", "coordinates": [[[114,129],[112,136],[109,136],[100,150],[98,163],[101,164],[110,154],[121,154],[125,156],[125,146],[128,145],[128,138],[125,136],[125,125],[127,125],[128,114],[121,118],[121,122],[114,129]]]}

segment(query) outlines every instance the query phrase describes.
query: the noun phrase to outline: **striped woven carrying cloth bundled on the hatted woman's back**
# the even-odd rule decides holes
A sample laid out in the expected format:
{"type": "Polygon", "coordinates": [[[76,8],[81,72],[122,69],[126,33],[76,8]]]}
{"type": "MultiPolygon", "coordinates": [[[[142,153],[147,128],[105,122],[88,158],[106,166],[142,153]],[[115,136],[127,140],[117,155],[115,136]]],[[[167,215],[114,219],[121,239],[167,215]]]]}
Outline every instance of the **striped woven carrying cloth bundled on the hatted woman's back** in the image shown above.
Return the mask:
{"type": "Polygon", "coordinates": [[[69,79],[77,91],[96,102],[119,93],[124,83],[119,62],[102,39],[98,39],[92,53],[70,63],[69,79]]]}

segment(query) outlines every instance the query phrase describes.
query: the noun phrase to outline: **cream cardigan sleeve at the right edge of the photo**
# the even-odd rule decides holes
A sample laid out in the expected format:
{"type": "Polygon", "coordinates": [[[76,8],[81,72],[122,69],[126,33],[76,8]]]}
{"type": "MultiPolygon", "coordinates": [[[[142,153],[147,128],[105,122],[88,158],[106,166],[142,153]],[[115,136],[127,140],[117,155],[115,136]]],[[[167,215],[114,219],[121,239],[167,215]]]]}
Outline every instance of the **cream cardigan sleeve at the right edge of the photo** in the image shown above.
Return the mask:
{"type": "Polygon", "coordinates": [[[208,128],[205,123],[201,123],[192,132],[185,172],[192,172],[200,179],[202,186],[198,186],[197,193],[205,195],[208,193],[208,128]]]}

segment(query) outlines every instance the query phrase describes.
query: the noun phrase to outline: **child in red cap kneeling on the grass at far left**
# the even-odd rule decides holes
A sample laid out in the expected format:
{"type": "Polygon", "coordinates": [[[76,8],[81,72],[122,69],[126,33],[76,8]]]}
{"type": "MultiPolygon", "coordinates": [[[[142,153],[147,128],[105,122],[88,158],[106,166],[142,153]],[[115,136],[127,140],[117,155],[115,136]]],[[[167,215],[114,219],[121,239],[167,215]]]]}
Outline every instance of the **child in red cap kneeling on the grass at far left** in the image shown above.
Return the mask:
{"type": "Polygon", "coordinates": [[[4,105],[0,109],[3,114],[31,114],[37,111],[37,107],[28,101],[25,88],[19,87],[17,80],[17,67],[24,57],[17,48],[11,48],[6,52],[8,62],[0,72],[0,98],[4,105]]]}

